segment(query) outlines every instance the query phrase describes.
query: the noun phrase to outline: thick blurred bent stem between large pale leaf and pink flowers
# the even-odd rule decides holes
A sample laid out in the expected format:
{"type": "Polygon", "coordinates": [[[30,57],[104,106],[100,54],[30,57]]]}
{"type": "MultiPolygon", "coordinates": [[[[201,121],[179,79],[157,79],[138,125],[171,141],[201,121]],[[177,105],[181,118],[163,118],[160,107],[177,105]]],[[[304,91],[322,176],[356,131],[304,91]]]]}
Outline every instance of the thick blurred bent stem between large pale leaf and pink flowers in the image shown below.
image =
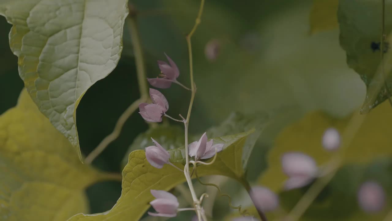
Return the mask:
{"type": "Polygon", "coordinates": [[[140,99],[134,101],[129,107],[121,114],[118,118],[116,125],[114,126],[113,132],[106,136],[98,146],[91,151],[91,153],[85,158],[86,164],[91,164],[93,160],[102,153],[105,148],[116,140],[122,131],[122,128],[128,118],[138,109],[138,105],[143,102],[147,102],[149,99],[148,85],[145,75],[144,57],[142,51],[142,42],[140,41],[139,31],[136,23],[136,11],[133,7],[130,8],[128,16],[129,31],[131,33],[132,45],[134,48],[135,62],[136,62],[136,74],[138,78],[138,85],[140,91],[140,99]]]}

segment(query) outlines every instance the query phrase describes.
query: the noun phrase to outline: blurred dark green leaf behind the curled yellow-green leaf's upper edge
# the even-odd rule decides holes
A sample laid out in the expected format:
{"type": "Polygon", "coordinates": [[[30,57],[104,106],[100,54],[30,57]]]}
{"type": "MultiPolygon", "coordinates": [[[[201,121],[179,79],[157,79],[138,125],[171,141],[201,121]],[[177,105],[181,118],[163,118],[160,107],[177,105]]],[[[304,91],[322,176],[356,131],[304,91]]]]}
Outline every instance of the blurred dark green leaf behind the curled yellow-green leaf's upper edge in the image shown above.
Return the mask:
{"type": "Polygon", "coordinates": [[[151,138],[154,138],[165,149],[174,149],[184,144],[184,129],[176,125],[160,124],[158,127],[150,128],[139,134],[129,146],[128,152],[122,161],[123,168],[127,165],[128,156],[132,151],[154,145],[151,138]]]}

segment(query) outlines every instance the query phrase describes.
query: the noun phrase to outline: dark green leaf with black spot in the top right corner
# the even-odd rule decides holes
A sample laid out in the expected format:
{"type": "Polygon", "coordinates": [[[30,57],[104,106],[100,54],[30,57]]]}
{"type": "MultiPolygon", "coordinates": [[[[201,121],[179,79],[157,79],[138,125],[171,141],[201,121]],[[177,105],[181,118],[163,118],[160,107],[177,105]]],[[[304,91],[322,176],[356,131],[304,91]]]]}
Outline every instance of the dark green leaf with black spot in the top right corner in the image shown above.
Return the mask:
{"type": "MultiPolygon", "coordinates": [[[[339,0],[340,45],[346,51],[348,66],[359,74],[367,86],[367,95],[361,109],[363,113],[388,99],[389,92],[392,91],[392,78],[387,77],[386,87],[384,85],[381,88],[376,100],[372,102],[369,96],[372,80],[381,61],[381,4],[377,0],[339,0]]],[[[392,2],[386,1],[385,11],[391,10],[392,2]]],[[[385,34],[389,35],[391,29],[392,17],[385,16],[385,34]]],[[[388,43],[392,42],[385,42],[384,51],[388,50],[388,43]]],[[[383,74],[390,76],[390,73],[383,74]]]]}

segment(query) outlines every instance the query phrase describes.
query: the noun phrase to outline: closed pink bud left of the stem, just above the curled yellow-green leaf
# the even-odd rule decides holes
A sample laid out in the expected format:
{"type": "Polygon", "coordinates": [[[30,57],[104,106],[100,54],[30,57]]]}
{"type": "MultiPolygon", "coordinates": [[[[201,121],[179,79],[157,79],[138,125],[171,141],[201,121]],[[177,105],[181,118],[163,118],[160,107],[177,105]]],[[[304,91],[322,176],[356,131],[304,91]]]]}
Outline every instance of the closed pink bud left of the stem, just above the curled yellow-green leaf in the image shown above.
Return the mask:
{"type": "Polygon", "coordinates": [[[155,146],[145,148],[146,159],[151,166],[160,169],[164,164],[169,163],[170,154],[154,139],[152,139],[152,142],[154,142],[155,146]]]}

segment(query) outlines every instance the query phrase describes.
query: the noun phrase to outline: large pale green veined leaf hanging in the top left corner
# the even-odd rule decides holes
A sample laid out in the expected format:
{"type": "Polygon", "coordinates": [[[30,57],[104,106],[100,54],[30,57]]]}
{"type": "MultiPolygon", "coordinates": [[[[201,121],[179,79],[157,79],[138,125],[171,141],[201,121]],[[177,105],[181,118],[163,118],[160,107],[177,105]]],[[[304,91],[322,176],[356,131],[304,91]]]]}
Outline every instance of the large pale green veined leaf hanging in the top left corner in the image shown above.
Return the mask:
{"type": "Polygon", "coordinates": [[[127,0],[12,0],[0,15],[13,24],[9,44],[40,111],[76,148],[76,108],[117,65],[127,0]]]}

